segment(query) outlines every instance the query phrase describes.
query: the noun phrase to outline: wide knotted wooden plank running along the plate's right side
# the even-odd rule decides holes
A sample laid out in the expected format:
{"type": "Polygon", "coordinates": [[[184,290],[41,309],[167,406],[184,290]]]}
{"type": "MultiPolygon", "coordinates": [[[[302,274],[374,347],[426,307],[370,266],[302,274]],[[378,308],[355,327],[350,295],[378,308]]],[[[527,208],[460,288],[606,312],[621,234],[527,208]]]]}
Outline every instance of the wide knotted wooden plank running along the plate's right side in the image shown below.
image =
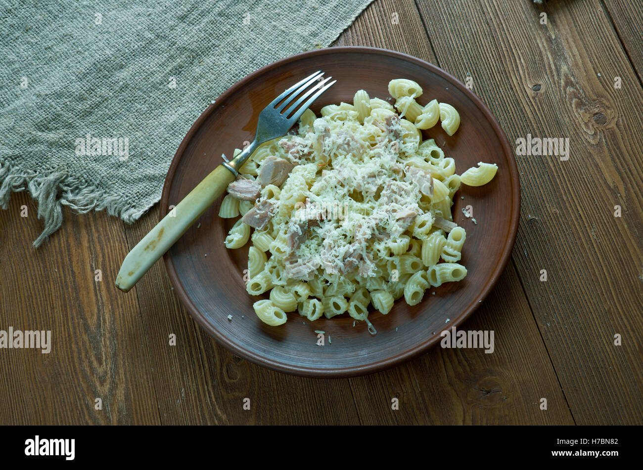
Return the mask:
{"type": "Polygon", "coordinates": [[[473,77],[509,141],[570,139],[568,161],[517,157],[513,259],[577,424],[640,424],[643,93],[619,40],[606,35],[600,4],[550,4],[546,25],[527,2],[444,0],[419,10],[440,64],[473,77]],[[614,89],[617,75],[631,77],[627,88],[614,89]],[[627,338],[621,346],[615,333],[627,338]]]}

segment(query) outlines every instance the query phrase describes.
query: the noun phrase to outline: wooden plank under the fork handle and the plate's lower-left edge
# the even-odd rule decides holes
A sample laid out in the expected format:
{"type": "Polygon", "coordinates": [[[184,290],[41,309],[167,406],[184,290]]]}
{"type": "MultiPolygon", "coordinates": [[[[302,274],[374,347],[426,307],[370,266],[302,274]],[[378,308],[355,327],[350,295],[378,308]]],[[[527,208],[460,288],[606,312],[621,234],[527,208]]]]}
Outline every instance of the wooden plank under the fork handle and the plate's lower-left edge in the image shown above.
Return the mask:
{"type": "MultiPolygon", "coordinates": [[[[129,244],[156,222],[158,207],[125,225],[129,244]]],[[[174,295],[161,261],[136,284],[136,295],[163,424],[359,424],[347,379],[273,372],[217,344],[174,295]],[[168,346],[170,332],[177,335],[175,347],[168,346]],[[243,408],[245,398],[250,410],[243,408]]]]}

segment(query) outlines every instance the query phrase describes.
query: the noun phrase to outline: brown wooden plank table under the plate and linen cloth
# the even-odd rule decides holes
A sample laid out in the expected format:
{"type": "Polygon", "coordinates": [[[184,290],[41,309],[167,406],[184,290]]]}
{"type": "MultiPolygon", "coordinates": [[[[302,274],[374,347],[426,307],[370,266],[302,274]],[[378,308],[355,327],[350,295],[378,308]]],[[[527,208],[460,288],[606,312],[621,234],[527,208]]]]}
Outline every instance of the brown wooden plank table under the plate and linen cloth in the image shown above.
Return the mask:
{"type": "Polygon", "coordinates": [[[493,354],[437,347],[350,379],[264,369],[197,326],[161,263],[114,288],[158,207],[134,225],[64,211],[33,249],[37,206],[17,193],[0,211],[0,329],[46,326],[55,347],[0,350],[0,424],[643,424],[642,17],[628,0],[376,0],[336,41],[471,77],[511,143],[570,139],[566,161],[516,157],[511,263],[466,322],[496,331],[493,354]]]}

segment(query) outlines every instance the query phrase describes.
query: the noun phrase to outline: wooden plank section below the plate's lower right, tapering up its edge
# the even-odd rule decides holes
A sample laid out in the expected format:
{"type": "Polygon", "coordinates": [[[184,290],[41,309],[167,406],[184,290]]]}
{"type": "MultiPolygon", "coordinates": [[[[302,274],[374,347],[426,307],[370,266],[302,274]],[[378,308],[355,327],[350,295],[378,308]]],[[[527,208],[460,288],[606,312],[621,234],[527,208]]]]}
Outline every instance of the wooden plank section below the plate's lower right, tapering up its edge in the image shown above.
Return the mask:
{"type": "Polygon", "coordinates": [[[436,347],[350,379],[363,424],[574,424],[512,265],[464,328],[493,330],[494,352],[436,347]]]}

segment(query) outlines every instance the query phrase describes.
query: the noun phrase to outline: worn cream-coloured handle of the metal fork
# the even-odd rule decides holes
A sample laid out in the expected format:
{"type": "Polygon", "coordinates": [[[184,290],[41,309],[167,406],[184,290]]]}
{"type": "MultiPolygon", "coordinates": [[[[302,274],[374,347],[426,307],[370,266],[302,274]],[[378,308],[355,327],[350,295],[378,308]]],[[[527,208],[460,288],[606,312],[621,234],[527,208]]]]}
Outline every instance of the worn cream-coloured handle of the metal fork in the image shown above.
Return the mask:
{"type": "Polygon", "coordinates": [[[116,287],[129,291],[234,179],[235,175],[223,165],[206,176],[125,256],[116,287]]]}

